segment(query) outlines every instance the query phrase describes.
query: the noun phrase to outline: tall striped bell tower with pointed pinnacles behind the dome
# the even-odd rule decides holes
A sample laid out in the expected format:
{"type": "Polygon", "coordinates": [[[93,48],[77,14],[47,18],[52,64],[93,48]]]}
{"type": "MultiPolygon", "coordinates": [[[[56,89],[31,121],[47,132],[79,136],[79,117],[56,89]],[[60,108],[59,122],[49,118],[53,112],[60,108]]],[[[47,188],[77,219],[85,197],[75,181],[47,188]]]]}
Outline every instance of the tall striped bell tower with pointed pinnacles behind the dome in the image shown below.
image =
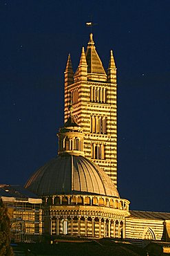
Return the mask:
{"type": "Polygon", "coordinates": [[[92,33],[74,73],[69,55],[65,68],[65,122],[70,107],[83,130],[85,157],[99,165],[117,185],[116,65],[110,51],[107,72],[98,56],[92,33]]]}

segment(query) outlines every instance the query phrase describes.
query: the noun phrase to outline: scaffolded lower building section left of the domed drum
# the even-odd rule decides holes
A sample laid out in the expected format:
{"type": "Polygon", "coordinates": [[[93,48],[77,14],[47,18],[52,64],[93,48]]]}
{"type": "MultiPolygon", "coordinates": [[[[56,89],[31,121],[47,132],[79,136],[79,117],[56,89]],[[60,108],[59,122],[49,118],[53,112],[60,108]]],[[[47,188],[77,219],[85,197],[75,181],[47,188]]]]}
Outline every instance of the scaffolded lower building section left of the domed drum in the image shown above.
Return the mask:
{"type": "Polygon", "coordinates": [[[42,199],[19,185],[0,185],[10,217],[12,241],[39,240],[43,234],[42,199]]]}

